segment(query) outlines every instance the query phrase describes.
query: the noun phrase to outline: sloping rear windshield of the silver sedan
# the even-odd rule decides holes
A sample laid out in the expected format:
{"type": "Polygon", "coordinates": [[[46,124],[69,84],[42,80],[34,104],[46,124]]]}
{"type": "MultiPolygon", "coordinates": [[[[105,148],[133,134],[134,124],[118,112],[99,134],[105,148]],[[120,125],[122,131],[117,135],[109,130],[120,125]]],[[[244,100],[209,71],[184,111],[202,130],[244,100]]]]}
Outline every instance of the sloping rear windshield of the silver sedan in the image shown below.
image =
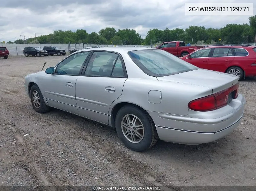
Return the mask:
{"type": "Polygon", "coordinates": [[[164,50],[134,50],[128,55],[143,72],[155,77],[199,69],[164,50]]]}

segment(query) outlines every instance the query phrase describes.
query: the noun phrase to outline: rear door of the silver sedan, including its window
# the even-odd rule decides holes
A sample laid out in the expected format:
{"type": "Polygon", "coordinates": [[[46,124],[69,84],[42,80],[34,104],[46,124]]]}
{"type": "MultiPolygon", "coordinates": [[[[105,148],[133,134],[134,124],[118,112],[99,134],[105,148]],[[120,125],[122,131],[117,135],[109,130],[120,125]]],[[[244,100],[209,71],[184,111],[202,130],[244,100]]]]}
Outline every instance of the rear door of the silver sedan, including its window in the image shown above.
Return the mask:
{"type": "Polygon", "coordinates": [[[76,81],[79,115],[108,124],[111,103],[121,96],[127,74],[117,53],[94,51],[84,75],[76,81]]]}

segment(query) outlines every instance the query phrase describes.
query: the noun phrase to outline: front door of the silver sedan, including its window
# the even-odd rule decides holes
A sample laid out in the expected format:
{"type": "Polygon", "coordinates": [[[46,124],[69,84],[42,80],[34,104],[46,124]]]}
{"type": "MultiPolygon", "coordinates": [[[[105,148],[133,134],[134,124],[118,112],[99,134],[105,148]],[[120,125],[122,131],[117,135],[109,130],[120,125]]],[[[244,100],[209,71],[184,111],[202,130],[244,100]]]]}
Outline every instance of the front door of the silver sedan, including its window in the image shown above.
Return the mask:
{"type": "Polygon", "coordinates": [[[44,78],[45,98],[51,107],[78,114],[75,84],[90,53],[88,51],[68,56],[56,66],[54,74],[47,74],[44,78]]]}

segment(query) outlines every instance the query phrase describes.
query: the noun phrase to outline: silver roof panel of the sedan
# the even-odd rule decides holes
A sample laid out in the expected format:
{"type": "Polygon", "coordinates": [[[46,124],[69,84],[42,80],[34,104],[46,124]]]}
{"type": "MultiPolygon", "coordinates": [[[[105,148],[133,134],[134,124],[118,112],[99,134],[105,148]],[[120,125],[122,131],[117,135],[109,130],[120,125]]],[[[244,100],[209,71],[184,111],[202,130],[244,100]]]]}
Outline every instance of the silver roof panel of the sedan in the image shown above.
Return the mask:
{"type": "Polygon", "coordinates": [[[127,46],[116,46],[116,47],[101,47],[97,49],[81,49],[76,51],[75,53],[78,52],[84,52],[84,51],[113,51],[117,53],[128,53],[129,51],[133,50],[159,50],[162,51],[161,49],[155,49],[155,48],[146,48],[146,47],[127,47],[127,46]]]}

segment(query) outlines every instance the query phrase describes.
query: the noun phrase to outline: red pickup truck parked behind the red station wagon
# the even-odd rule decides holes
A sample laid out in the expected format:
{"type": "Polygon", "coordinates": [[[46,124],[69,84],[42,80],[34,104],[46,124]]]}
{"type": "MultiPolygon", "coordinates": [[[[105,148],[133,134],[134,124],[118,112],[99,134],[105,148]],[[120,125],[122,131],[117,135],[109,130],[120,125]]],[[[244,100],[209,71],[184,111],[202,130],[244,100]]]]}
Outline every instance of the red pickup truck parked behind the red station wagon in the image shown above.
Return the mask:
{"type": "Polygon", "coordinates": [[[187,56],[193,51],[203,48],[203,46],[186,46],[183,41],[172,41],[162,43],[157,49],[162,49],[178,57],[187,56]]]}

